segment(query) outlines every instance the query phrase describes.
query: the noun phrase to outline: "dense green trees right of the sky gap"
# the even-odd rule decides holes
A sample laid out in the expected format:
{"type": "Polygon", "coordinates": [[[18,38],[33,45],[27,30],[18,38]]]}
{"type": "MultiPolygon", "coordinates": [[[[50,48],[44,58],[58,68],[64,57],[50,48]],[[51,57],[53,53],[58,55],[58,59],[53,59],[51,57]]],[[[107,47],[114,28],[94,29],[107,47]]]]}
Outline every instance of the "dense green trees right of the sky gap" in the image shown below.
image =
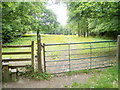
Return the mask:
{"type": "Polygon", "coordinates": [[[68,24],[78,36],[120,34],[119,2],[68,2],[68,24]]]}

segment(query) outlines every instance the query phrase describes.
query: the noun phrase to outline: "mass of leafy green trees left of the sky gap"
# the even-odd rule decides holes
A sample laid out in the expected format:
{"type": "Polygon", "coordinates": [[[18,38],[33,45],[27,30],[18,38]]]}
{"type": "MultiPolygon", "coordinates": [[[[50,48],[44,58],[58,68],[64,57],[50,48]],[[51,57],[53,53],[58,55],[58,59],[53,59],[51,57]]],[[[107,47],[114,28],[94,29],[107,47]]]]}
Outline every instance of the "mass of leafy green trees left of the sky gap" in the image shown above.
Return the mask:
{"type": "Polygon", "coordinates": [[[11,42],[31,30],[52,31],[56,15],[43,2],[2,2],[2,41],[11,42]]]}

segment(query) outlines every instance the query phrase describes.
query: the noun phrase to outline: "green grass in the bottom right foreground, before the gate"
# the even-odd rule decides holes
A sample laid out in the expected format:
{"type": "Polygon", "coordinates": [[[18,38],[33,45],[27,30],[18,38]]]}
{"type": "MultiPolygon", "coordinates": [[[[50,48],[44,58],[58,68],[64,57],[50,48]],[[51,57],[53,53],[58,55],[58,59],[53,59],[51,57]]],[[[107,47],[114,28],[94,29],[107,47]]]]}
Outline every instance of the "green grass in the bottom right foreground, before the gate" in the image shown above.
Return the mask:
{"type": "Polygon", "coordinates": [[[85,84],[73,82],[66,88],[118,88],[118,67],[114,66],[93,74],[85,84]]]}

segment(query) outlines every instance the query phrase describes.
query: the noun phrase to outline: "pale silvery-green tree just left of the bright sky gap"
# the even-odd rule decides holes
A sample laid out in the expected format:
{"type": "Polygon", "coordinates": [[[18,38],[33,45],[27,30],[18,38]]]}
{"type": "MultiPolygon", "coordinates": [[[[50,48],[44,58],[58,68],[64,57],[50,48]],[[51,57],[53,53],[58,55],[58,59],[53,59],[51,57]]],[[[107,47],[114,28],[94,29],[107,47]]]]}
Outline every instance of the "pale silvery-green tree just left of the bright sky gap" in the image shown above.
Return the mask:
{"type": "Polygon", "coordinates": [[[39,24],[41,25],[41,30],[46,33],[53,32],[59,26],[56,15],[52,10],[46,8],[43,9],[43,12],[41,13],[39,24]]]}

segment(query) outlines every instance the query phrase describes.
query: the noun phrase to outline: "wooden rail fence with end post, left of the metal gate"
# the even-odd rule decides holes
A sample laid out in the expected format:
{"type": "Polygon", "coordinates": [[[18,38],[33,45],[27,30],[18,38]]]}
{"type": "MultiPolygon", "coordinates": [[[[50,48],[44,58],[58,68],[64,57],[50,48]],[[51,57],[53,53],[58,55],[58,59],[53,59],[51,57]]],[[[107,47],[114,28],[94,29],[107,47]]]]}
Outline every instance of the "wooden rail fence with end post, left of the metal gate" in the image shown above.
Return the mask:
{"type": "Polygon", "coordinates": [[[2,48],[13,48],[13,51],[11,52],[2,52],[3,55],[28,55],[31,54],[31,57],[29,58],[15,58],[15,59],[2,59],[2,62],[5,62],[3,66],[7,66],[10,68],[17,68],[17,67],[25,67],[26,65],[13,65],[9,66],[9,62],[11,61],[31,61],[32,66],[34,67],[34,41],[31,42],[31,45],[3,45],[2,48]],[[14,48],[31,48],[29,52],[24,52],[24,51],[19,51],[19,52],[14,52],[14,48]]]}

